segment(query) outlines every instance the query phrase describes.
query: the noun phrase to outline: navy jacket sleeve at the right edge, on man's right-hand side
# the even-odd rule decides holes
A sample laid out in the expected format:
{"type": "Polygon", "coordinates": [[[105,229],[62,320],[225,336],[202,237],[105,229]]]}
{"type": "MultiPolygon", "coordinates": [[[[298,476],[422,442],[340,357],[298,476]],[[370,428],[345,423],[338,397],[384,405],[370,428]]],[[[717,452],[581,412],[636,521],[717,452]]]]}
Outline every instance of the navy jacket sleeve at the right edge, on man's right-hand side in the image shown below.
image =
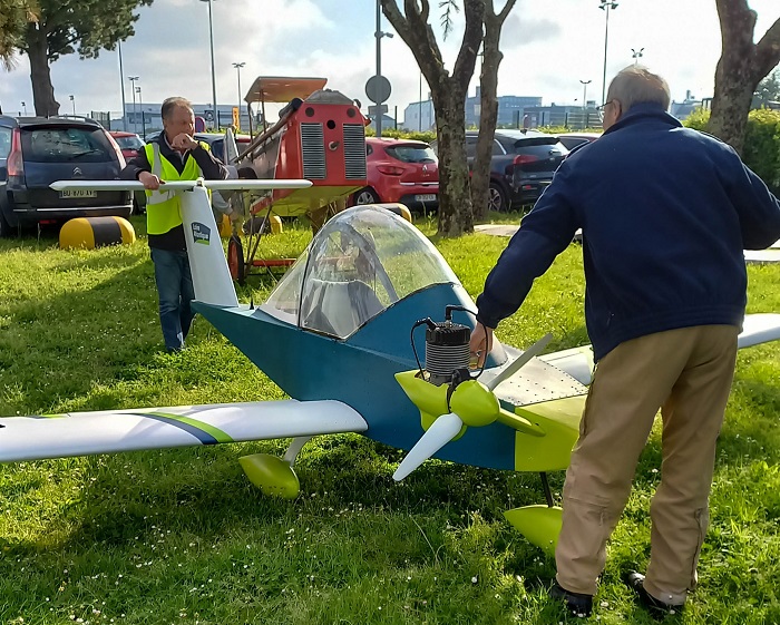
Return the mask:
{"type": "Polygon", "coordinates": [[[737,153],[731,152],[738,164],[733,166],[728,193],[740,217],[742,247],[764,250],[780,238],[780,202],[737,153]]]}

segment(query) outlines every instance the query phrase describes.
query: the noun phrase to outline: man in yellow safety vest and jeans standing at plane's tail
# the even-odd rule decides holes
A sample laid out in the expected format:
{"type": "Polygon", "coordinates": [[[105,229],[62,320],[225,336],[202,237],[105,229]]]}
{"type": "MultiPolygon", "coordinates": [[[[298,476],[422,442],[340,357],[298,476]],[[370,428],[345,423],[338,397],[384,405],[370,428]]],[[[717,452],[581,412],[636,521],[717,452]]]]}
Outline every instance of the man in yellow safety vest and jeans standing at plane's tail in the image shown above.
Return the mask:
{"type": "Polygon", "coordinates": [[[155,265],[159,296],[159,322],[165,349],[184,348],[195,316],[193,277],[184,238],[179,199],[172,192],[160,192],[163,182],[222,179],[227,169],[215,158],[208,145],[196,141],[195,115],[188,100],[167,98],[163,102],[163,129],[121,172],[127,180],[139,180],[146,188],[146,226],[155,265]]]}

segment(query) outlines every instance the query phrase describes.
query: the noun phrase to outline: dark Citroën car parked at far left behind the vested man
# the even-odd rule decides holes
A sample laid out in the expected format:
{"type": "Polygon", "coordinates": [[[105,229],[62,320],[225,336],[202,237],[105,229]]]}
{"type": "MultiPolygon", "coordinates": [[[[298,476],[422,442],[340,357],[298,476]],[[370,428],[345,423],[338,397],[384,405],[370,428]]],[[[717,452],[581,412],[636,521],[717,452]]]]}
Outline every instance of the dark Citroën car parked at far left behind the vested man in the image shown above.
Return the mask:
{"type": "Polygon", "coordinates": [[[127,191],[60,191],[55,180],[114,180],[125,166],[116,141],[87,118],[0,115],[0,236],[38,223],[133,209],[127,191]]]}

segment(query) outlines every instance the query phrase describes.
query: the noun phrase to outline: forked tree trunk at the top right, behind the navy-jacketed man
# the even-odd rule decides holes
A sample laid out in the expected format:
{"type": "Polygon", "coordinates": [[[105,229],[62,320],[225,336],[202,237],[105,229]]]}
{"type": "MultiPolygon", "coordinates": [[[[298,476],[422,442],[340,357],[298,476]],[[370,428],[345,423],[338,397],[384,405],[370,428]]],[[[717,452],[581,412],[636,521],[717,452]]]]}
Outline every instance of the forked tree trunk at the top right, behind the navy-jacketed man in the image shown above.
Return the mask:
{"type": "Polygon", "coordinates": [[[755,11],[747,0],[715,0],[723,51],[708,130],[741,153],[748,113],[759,82],[780,62],[780,20],[753,43],[755,11]]]}

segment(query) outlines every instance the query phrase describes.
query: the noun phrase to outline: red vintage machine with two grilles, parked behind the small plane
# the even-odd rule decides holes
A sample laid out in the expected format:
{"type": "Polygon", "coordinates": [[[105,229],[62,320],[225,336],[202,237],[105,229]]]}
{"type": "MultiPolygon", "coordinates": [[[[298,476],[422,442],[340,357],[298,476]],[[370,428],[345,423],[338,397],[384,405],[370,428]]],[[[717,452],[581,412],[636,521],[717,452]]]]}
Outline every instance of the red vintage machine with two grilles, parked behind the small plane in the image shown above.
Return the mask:
{"type": "Polygon", "coordinates": [[[325,78],[260,76],[244,98],[250,119],[255,114],[252,105],[260,105],[262,127],[252,133],[253,139],[242,154],[228,158],[228,164],[235,165],[242,177],[306,178],[312,186],[271,191],[260,197],[237,196],[248,206],[251,216],[245,228],[246,246],[237,232],[228,242],[228,266],[240,283],[252,267],[286,266],[292,262],[255,258],[273,216],[306,215],[318,230],[329,215],[343,209],[350,194],[367,184],[368,120],[359,102],[325,89],[325,78]],[[273,124],[266,120],[269,102],[286,102],[273,124]]]}

